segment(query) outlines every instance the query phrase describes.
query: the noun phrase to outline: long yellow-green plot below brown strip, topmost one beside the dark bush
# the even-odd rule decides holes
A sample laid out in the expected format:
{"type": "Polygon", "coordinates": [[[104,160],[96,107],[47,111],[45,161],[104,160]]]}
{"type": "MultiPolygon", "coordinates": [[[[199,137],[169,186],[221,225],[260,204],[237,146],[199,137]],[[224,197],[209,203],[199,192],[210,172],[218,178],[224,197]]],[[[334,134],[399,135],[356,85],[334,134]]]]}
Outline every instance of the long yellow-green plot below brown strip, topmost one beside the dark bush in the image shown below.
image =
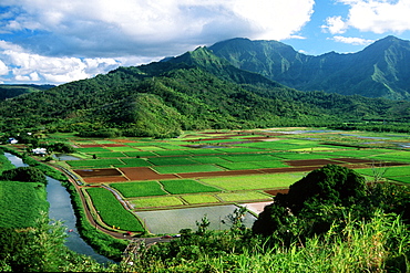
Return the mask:
{"type": "Polygon", "coordinates": [[[303,172],[295,172],[295,174],[203,178],[201,179],[201,181],[203,181],[206,185],[233,191],[233,190],[288,188],[290,185],[300,180],[303,177],[304,177],[303,172]]]}

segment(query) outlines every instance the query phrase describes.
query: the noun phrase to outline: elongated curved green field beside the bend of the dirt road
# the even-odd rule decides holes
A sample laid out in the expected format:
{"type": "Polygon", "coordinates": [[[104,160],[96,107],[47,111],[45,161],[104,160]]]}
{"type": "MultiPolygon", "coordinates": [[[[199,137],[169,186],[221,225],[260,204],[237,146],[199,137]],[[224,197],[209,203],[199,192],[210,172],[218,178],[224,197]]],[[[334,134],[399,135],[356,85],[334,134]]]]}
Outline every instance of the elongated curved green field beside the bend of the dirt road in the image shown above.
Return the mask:
{"type": "Polygon", "coordinates": [[[114,195],[103,188],[90,188],[86,189],[91,200],[101,219],[110,227],[116,227],[117,229],[140,232],[143,231],[143,227],[139,219],[136,219],[132,212],[127,211],[116,200],[114,195]]]}

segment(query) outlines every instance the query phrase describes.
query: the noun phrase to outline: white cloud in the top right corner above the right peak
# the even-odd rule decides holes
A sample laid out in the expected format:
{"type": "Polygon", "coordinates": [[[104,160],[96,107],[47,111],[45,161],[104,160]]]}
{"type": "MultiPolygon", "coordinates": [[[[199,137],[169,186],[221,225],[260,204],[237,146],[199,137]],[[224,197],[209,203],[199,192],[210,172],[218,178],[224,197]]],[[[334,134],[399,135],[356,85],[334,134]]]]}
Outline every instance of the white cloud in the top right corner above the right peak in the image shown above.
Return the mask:
{"type": "MultiPolygon", "coordinates": [[[[349,6],[349,14],[345,19],[346,28],[378,34],[386,32],[401,33],[410,30],[409,0],[339,0],[339,2],[349,6]]],[[[339,22],[342,21],[341,18],[338,20],[340,20],[339,22]]],[[[329,31],[332,25],[335,24],[329,18],[327,25],[329,31]]]]}

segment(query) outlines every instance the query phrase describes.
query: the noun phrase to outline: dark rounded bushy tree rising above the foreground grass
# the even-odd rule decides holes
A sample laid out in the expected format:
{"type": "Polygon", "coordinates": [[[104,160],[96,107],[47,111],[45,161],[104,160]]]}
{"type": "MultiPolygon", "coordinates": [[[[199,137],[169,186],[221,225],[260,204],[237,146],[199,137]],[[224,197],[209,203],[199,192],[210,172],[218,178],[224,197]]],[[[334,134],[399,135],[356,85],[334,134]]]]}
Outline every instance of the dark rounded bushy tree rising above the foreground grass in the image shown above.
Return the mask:
{"type": "Polygon", "coordinates": [[[347,211],[358,208],[359,213],[365,197],[362,176],[346,167],[327,165],[291,185],[287,195],[278,193],[259,214],[253,231],[275,233],[281,239],[322,233],[347,211]]]}

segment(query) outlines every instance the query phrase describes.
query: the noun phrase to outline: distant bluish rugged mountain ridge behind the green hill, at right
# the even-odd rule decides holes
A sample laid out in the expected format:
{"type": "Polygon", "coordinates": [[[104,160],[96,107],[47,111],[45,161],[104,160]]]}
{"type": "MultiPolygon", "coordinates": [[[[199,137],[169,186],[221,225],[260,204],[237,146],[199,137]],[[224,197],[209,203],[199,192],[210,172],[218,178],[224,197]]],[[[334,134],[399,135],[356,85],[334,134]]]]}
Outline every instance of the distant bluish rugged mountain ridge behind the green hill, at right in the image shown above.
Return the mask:
{"type": "Polygon", "coordinates": [[[301,91],[410,98],[410,42],[387,36],[357,53],[306,55],[277,41],[232,39],[209,46],[238,69],[301,91]]]}

